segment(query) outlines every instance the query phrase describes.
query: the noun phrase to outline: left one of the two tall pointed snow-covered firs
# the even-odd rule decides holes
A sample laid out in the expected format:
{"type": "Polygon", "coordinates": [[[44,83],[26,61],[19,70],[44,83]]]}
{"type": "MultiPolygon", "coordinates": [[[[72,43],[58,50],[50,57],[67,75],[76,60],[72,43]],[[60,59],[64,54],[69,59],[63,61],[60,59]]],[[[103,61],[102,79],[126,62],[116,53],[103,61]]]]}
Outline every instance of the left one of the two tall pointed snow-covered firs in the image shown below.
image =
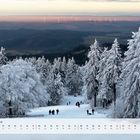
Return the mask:
{"type": "Polygon", "coordinates": [[[99,44],[95,39],[94,44],[90,46],[88,53],[89,61],[85,66],[84,92],[89,100],[93,100],[94,107],[96,107],[96,98],[98,94],[98,81],[97,74],[99,70],[100,51],[99,44]]]}

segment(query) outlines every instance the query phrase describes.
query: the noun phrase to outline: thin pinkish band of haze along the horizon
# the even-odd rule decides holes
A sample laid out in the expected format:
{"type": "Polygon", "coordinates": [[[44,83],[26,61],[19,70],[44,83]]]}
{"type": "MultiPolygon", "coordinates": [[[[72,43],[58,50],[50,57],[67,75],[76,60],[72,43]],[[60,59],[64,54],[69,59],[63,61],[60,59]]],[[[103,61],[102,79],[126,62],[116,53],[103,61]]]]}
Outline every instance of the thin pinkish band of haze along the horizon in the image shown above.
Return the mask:
{"type": "Polygon", "coordinates": [[[0,16],[0,22],[140,21],[139,16],[0,16]]]}

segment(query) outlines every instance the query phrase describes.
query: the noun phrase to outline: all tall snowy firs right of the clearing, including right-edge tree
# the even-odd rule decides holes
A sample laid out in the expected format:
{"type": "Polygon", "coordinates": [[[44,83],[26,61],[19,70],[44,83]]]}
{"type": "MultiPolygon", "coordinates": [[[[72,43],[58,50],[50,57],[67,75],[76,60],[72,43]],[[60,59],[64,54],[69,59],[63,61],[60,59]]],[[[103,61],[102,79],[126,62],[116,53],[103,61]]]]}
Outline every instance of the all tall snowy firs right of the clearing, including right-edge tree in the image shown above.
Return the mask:
{"type": "Polygon", "coordinates": [[[128,41],[124,59],[117,39],[110,50],[101,50],[95,40],[88,58],[83,81],[92,106],[112,103],[114,117],[140,117],[140,29],[128,41]]]}

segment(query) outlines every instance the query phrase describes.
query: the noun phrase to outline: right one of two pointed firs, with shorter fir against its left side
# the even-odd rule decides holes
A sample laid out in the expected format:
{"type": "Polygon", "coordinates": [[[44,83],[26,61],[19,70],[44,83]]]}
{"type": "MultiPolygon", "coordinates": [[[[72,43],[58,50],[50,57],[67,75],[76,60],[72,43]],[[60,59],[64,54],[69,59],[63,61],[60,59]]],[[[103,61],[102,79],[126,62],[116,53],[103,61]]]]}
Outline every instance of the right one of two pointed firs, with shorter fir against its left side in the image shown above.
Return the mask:
{"type": "Polygon", "coordinates": [[[102,99],[103,107],[107,103],[116,103],[116,85],[122,69],[122,58],[117,39],[114,40],[110,50],[105,49],[99,64],[99,92],[98,98],[102,99]]]}

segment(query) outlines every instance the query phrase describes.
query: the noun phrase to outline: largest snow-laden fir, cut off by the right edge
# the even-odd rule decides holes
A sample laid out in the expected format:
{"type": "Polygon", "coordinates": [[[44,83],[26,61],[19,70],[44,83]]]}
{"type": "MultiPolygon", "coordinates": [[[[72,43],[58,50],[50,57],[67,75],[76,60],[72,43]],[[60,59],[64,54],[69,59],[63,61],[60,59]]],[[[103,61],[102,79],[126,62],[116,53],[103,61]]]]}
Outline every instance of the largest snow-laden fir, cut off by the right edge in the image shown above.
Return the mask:
{"type": "Polygon", "coordinates": [[[140,28],[138,32],[133,33],[128,45],[115,115],[123,118],[137,118],[140,117],[140,28]]]}

